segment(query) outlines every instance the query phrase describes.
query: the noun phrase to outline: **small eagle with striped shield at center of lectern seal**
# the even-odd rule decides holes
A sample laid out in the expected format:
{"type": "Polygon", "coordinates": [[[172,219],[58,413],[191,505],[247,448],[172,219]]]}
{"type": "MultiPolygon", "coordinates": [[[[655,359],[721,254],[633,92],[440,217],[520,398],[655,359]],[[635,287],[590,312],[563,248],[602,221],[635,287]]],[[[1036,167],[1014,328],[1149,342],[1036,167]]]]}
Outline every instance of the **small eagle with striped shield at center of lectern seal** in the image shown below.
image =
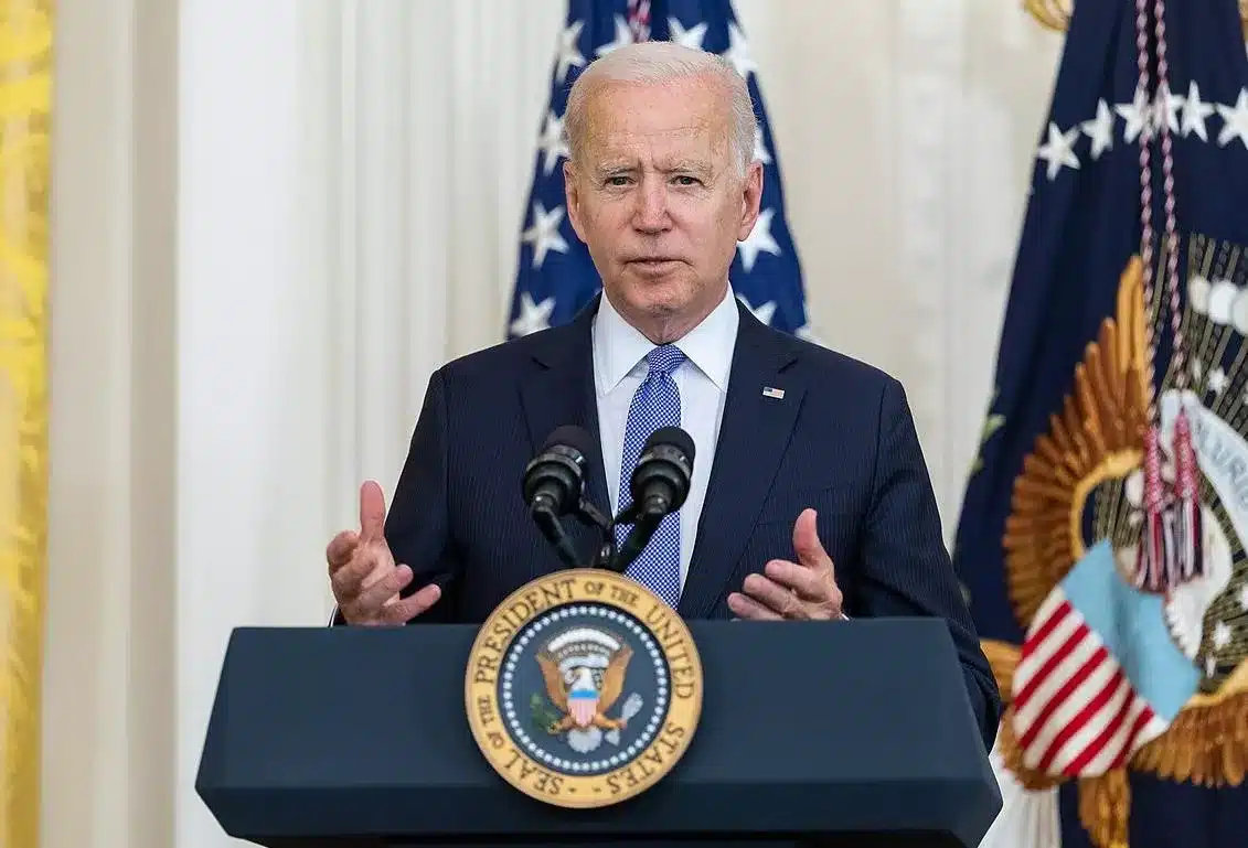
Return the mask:
{"type": "Polygon", "coordinates": [[[641,708],[641,696],[631,695],[620,713],[608,713],[624,693],[633,648],[615,634],[597,627],[573,627],[537,652],[545,696],[554,715],[542,721],[553,736],[565,733],[578,753],[589,753],[605,738],[619,744],[620,731],[641,708]]]}

